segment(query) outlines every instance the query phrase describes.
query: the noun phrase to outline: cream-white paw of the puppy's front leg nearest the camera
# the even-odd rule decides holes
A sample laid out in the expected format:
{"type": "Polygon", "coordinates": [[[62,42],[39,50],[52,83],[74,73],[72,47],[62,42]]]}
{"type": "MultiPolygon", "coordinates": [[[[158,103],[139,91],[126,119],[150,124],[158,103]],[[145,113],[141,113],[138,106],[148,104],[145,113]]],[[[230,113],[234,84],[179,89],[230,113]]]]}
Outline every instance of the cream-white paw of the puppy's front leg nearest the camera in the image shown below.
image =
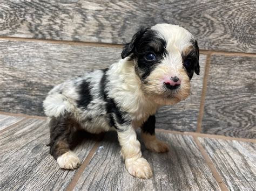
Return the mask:
{"type": "Polygon", "coordinates": [[[142,157],[138,159],[126,159],[125,166],[131,175],[138,178],[149,179],[153,175],[149,162],[142,157]]]}

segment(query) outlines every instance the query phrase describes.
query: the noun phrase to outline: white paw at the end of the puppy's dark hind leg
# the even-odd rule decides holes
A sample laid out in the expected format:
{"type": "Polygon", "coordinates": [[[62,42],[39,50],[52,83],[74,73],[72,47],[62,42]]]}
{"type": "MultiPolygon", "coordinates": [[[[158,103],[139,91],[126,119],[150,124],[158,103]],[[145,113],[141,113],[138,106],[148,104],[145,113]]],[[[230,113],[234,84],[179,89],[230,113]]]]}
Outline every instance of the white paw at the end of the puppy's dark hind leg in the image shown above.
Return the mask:
{"type": "Polygon", "coordinates": [[[66,152],[57,158],[57,162],[60,168],[76,169],[80,166],[80,160],[77,155],[72,151],[66,152]]]}

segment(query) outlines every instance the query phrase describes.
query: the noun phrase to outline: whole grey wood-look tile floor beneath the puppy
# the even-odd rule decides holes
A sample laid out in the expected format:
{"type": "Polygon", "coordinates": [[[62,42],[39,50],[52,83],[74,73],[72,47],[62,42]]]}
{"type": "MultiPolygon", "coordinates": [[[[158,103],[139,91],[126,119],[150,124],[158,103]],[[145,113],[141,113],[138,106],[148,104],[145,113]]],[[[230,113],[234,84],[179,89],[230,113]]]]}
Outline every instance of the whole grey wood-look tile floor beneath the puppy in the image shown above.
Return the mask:
{"type": "Polygon", "coordinates": [[[153,153],[142,144],[154,171],[151,179],[142,180],[127,173],[115,132],[105,133],[103,139],[82,134],[75,152],[84,163],[68,171],[59,169],[49,154],[46,119],[0,114],[0,127],[1,190],[221,190],[218,179],[231,190],[255,188],[256,141],[252,139],[243,142],[158,130],[157,137],[170,145],[170,151],[153,153]]]}

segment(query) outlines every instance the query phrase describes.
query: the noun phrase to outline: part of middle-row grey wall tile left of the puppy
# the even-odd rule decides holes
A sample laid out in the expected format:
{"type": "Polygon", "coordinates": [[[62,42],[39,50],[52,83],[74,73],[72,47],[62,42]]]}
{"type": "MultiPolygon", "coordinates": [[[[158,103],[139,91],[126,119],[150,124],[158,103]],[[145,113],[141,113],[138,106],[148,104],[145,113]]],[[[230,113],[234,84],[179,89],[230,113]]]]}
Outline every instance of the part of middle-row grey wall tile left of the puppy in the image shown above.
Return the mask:
{"type": "Polygon", "coordinates": [[[0,41],[0,110],[44,115],[49,90],[120,58],[120,48],[0,41]]]}

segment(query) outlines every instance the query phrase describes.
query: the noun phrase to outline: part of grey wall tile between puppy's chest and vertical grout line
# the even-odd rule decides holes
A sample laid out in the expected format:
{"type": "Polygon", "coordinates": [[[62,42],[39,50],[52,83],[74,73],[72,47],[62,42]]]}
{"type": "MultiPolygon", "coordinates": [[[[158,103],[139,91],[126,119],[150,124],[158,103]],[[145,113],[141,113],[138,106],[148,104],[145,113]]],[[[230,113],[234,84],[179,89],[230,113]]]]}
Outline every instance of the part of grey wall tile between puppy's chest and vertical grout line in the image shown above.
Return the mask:
{"type": "Polygon", "coordinates": [[[191,80],[191,95],[175,105],[160,108],[156,114],[156,127],[174,131],[196,131],[203,89],[206,55],[200,55],[200,75],[191,80]]]}

